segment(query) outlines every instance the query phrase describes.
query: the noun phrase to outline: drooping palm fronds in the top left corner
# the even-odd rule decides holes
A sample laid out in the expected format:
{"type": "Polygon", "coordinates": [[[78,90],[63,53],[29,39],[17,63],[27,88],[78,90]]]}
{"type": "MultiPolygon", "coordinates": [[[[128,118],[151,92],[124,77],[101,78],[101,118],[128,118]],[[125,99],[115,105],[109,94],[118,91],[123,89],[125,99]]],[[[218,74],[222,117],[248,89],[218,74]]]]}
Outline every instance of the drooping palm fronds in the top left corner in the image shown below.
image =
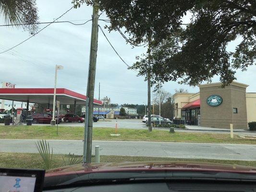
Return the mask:
{"type": "Polygon", "coordinates": [[[6,24],[26,24],[31,34],[37,31],[36,0],[0,0],[0,13],[6,24]]]}

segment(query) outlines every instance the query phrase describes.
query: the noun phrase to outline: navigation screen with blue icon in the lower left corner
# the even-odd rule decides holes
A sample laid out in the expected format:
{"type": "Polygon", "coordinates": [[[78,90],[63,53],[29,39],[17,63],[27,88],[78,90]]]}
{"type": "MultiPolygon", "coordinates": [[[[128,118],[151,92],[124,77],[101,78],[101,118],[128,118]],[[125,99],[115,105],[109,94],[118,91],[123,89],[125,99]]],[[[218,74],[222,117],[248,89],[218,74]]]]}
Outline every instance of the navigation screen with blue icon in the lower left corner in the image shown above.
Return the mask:
{"type": "Polygon", "coordinates": [[[0,192],[34,192],[35,174],[0,172],[0,192]]]}

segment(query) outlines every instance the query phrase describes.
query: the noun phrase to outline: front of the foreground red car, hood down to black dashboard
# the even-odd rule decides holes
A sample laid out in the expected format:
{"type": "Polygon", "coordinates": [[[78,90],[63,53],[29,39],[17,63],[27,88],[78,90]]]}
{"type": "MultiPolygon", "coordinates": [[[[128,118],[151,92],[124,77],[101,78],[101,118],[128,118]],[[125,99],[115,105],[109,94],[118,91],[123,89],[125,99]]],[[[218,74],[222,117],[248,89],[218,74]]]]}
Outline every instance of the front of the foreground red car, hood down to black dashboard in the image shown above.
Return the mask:
{"type": "Polygon", "coordinates": [[[51,192],[252,192],[253,167],[200,162],[85,163],[48,170],[51,192]]]}

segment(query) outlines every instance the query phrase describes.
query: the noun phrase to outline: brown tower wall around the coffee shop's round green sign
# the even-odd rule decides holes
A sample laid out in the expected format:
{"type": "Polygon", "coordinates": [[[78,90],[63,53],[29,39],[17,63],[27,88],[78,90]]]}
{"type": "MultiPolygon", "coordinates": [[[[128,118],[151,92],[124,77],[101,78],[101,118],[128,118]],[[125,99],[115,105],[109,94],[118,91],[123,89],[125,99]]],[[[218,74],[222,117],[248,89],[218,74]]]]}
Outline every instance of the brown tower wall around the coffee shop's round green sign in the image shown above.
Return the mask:
{"type": "Polygon", "coordinates": [[[246,87],[235,85],[226,86],[203,86],[200,87],[200,126],[230,128],[233,124],[234,129],[247,128],[247,113],[245,100],[246,87]],[[209,106],[207,97],[219,95],[222,103],[219,106],[209,106]],[[233,113],[233,108],[238,109],[238,113],[233,113]]]}

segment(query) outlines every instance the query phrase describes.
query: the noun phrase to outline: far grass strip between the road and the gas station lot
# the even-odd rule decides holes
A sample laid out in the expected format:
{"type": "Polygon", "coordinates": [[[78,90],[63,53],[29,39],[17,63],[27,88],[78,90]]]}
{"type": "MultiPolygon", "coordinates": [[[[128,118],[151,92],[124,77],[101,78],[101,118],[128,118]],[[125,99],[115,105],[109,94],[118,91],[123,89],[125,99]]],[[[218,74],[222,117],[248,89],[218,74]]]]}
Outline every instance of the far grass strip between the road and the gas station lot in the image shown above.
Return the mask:
{"type": "MultiPolygon", "coordinates": [[[[234,135],[223,133],[201,132],[175,132],[164,130],[118,129],[120,136],[110,136],[115,133],[114,128],[93,128],[93,140],[115,141],[161,141],[161,142],[194,142],[194,143],[230,143],[230,144],[256,144],[256,140],[242,139],[234,135]]],[[[83,127],[59,126],[0,126],[0,139],[64,139],[83,140],[83,127]]]]}

